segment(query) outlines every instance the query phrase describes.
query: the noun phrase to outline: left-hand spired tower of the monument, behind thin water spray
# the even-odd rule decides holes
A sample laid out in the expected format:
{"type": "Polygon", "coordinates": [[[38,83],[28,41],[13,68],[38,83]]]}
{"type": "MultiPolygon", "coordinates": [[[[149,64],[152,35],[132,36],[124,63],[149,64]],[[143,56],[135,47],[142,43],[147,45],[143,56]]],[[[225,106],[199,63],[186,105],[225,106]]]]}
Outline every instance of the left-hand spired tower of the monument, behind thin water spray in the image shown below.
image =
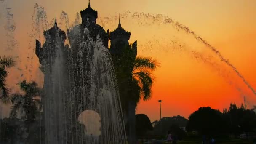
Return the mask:
{"type": "MultiPolygon", "coordinates": [[[[41,139],[43,143],[49,143],[49,139],[53,139],[56,132],[64,133],[63,130],[64,121],[56,122],[53,116],[63,119],[61,115],[61,110],[64,109],[64,104],[67,99],[67,89],[69,85],[68,76],[68,45],[64,46],[64,42],[67,39],[66,34],[57,25],[57,19],[55,17],[54,26],[44,31],[45,43],[41,48],[41,43],[36,40],[36,50],[35,53],[39,58],[41,64],[41,71],[44,73],[44,85],[43,91],[41,93],[41,99],[43,104],[43,118],[42,118],[42,128],[41,128],[41,139]],[[56,77],[59,75],[60,77],[56,77]],[[63,105],[58,105],[56,103],[63,101],[63,105]],[[52,125],[55,128],[51,129],[52,125]]],[[[55,136],[56,143],[60,143],[62,138],[60,136],[55,136]]]]}

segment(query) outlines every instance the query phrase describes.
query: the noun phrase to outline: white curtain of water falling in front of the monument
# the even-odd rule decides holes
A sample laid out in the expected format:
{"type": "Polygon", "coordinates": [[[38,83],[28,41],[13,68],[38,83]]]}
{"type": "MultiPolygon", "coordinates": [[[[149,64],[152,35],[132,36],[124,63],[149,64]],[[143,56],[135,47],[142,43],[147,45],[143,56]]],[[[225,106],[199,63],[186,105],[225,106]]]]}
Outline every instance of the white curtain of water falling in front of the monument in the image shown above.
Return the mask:
{"type": "Polygon", "coordinates": [[[111,61],[109,52],[99,37],[96,42],[90,38],[87,41],[81,40],[77,59],[70,57],[71,63],[77,61],[80,68],[75,75],[75,67],[72,64],[68,64],[68,71],[64,68],[66,56],[61,53],[64,45],[61,43],[56,47],[50,45],[47,46],[49,51],[51,49],[56,51],[49,53],[48,56],[51,58],[49,57],[48,60],[52,61],[55,56],[56,58],[52,67],[44,69],[45,76],[49,75],[45,77],[44,87],[46,143],[65,144],[69,141],[73,144],[87,144],[90,142],[91,135],[85,135],[84,128],[86,127],[78,120],[79,115],[85,110],[93,110],[101,117],[101,125],[95,125],[94,128],[95,131],[101,130],[101,138],[93,136],[95,144],[96,142],[101,144],[125,143],[115,75],[112,64],[109,63],[111,61]],[[87,52],[86,55],[83,54],[85,52],[87,52]],[[87,68],[90,70],[84,71],[87,68]],[[85,80],[84,77],[88,79],[85,80]]]}

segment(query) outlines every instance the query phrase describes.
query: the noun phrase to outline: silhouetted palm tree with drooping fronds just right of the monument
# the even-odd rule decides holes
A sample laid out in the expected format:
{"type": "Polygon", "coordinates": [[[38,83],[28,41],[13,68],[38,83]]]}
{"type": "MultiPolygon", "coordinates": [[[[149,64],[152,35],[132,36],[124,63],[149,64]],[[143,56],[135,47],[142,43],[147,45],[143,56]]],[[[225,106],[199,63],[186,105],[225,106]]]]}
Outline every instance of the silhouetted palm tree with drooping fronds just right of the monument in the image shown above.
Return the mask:
{"type": "Polygon", "coordinates": [[[135,143],[135,109],[140,101],[143,99],[147,101],[151,98],[152,85],[155,80],[152,71],[157,67],[160,67],[155,59],[149,57],[136,57],[133,63],[133,71],[131,73],[131,97],[129,100],[129,133],[130,133],[130,143],[135,143]]]}

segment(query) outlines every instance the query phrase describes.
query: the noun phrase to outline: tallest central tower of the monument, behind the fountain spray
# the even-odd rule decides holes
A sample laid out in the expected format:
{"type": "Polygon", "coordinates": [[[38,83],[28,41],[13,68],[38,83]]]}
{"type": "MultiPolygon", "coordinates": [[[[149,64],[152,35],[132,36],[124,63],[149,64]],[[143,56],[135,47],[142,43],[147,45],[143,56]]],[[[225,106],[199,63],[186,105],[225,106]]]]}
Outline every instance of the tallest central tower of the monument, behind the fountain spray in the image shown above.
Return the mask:
{"type": "MultiPolygon", "coordinates": [[[[75,138],[72,140],[73,144],[78,144],[80,141],[83,141],[83,144],[85,144],[86,141],[84,138],[85,135],[83,125],[77,122],[77,117],[81,114],[81,112],[85,110],[93,110],[101,114],[101,109],[97,109],[97,97],[95,99],[90,99],[90,93],[93,89],[90,83],[92,80],[90,72],[93,70],[93,68],[95,68],[92,61],[94,52],[97,49],[96,45],[93,45],[91,42],[100,40],[103,46],[107,49],[109,41],[109,30],[106,32],[103,27],[96,24],[98,12],[91,8],[90,1],[88,3],[88,7],[80,11],[80,15],[82,18],[82,23],[73,27],[73,29],[70,31],[67,31],[72,57],[72,60],[70,61],[70,72],[72,72],[72,75],[70,75],[70,83],[72,83],[72,101],[74,101],[71,116],[71,121],[73,123],[71,128],[72,137],[75,138]],[[86,104],[82,103],[84,101],[86,104]]],[[[94,76],[99,75],[100,77],[102,73],[99,72],[93,74],[94,76]]],[[[97,78],[95,77],[94,80],[96,79],[97,78]]],[[[101,84],[97,86],[100,87],[101,84]]],[[[102,120],[101,125],[104,125],[104,123],[105,121],[102,120]]],[[[102,139],[104,139],[106,136],[106,134],[101,135],[102,139]]]]}

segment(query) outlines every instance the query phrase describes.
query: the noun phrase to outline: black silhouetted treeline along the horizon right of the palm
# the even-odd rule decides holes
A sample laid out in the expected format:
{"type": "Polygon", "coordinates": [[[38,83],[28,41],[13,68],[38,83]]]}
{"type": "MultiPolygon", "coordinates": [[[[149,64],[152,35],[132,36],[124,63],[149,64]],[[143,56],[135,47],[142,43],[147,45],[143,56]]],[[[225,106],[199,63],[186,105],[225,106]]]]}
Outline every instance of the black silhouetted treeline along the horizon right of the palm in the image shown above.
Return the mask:
{"type": "MultiPolygon", "coordinates": [[[[163,117],[149,125],[148,118],[143,114],[136,115],[136,133],[138,139],[166,139],[171,133],[177,141],[186,139],[202,142],[217,139],[230,141],[231,139],[255,139],[256,107],[246,109],[243,104],[238,107],[230,104],[223,112],[211,107],[200,107],[193,112],[189,119],[182,116],[163,117]],[[139,118],[140,117],[140,118],[139,118]]],[[[241,141],[238,141],[240,143],[241,141]]],[[[192,142],[191,142],[192,143],[192,142]]]]}

